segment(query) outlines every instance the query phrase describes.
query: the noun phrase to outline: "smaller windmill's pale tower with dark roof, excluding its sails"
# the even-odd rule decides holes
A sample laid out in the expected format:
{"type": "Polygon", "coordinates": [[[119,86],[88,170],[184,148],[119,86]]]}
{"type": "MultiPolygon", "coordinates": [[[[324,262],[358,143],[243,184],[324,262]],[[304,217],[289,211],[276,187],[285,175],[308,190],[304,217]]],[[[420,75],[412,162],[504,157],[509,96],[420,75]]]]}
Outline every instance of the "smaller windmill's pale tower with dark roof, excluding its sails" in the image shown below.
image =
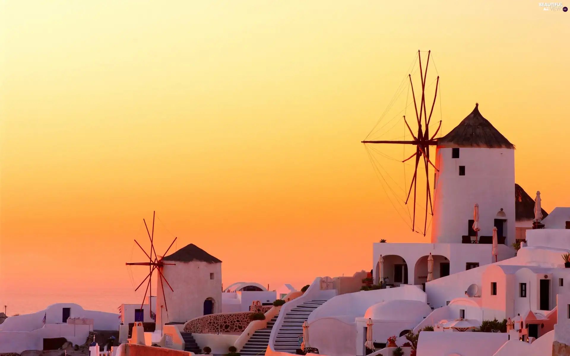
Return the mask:
{"type": "Polygon", "coordinates": [[[157,281],[157,329],[169,322],[184,323],[222,312],[221,260],[189,244],[163,257],[162,262],[161,272],[168,284],[160,278],[157,281]]]}

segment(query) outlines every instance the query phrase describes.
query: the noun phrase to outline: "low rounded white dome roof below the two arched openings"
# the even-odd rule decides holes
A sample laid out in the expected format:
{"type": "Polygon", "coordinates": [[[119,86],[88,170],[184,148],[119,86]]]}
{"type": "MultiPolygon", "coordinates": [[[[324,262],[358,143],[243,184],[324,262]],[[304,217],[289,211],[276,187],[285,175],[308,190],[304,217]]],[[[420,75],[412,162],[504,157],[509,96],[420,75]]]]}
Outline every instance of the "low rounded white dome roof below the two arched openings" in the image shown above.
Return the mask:
{"type": "Polygon", "coordinates": [[[418,300],[389,300],[370,306],[364,317],[376,321],[416,321],[430,313],[430,306],[418,300]]]}

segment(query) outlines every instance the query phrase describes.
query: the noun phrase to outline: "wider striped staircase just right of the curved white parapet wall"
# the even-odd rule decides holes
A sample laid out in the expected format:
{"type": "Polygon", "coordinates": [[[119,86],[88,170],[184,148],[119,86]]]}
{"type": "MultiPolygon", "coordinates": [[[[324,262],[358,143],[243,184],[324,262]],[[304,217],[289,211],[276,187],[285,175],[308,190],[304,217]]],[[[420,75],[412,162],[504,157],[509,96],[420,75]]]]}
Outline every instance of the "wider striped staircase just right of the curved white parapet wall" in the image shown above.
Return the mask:
{"type": "Polygon", "coordinates": [[[294,306],[283,316],[283,322],[275,337],[275,351],[295,354],[299,349],[299,335],[303,334],[303,322],[313,310],[327,300],[310,300],[294,306]]]}

